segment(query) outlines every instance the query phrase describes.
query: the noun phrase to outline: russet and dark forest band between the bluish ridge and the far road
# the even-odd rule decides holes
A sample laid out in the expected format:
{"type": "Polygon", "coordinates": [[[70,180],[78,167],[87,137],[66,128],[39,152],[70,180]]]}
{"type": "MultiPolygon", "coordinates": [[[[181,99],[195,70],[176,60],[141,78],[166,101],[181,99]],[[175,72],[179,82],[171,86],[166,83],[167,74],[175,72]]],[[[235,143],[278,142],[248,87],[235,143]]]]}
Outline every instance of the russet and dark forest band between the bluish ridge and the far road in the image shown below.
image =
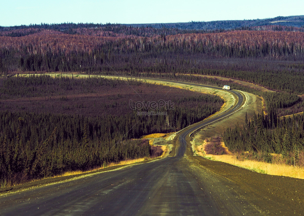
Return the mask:
{"type": "Polygon", "coordinates": [[[0,71],[178,73],[192,65],[194,70],[204,68],[199,58],[209,61],[213,57],[301,61],[304,59],[303,41],[302,32],[244,30],[102,37],[43,29],[24,37],[1,36],[0,71]]]}

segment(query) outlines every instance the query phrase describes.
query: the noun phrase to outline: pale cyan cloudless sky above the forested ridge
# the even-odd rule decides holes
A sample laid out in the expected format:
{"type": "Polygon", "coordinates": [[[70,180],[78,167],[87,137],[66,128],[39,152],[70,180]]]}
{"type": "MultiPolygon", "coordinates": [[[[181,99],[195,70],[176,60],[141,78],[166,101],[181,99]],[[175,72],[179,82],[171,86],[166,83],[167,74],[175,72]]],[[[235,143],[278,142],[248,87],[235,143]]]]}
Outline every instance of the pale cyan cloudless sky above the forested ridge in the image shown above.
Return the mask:
{"type": "Polygon", "coordinates": [[[170,23],[304,15],[303,0],[10,0],[0,26],[40,23],[170,23]]]}

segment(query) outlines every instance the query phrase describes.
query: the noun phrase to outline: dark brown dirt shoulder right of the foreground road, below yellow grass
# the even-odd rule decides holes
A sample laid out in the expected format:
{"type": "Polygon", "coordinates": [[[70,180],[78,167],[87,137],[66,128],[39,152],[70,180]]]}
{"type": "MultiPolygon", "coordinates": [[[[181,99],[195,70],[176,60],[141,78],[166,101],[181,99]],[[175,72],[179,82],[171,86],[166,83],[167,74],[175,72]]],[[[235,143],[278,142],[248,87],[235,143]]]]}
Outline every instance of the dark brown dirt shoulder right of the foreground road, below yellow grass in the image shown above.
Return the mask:
{"type": "MultiPolygon", "coordinates": [[[[198,156],[190,156],[189,158],[197,161],[203,168],[223,176],[230,182],[239,182],[238,188],[244,188],[246,193],[249,194],[258,194],[261,202],[267,203],[271,199],[278,203],[285,203],[286,208],[290,210],[289,212],[286,210],[280,212],[281,215],[301,215],[301,212],[303,212],[304,180],[302,179],[265,175],[198,156]],[[300,209],[296,213],[294,212],[294,206],[300,209]]],[[[256,200],[256,197],[254,199],[256,200]]]]}

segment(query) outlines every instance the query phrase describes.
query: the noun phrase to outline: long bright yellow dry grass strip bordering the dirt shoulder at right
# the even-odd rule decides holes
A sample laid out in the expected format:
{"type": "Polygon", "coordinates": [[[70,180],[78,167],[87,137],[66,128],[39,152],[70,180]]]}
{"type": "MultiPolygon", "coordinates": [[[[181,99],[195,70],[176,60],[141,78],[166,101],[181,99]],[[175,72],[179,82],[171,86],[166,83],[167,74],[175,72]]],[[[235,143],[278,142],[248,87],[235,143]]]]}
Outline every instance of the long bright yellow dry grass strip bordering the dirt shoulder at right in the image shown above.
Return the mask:
{"type": "Polygon", "coordinates": [[[205,157],[211,160],[233,164],[259,173],[304,179],[304,168],[250,160],[239,161],[234,155],[206,155],[205,157]]]}

